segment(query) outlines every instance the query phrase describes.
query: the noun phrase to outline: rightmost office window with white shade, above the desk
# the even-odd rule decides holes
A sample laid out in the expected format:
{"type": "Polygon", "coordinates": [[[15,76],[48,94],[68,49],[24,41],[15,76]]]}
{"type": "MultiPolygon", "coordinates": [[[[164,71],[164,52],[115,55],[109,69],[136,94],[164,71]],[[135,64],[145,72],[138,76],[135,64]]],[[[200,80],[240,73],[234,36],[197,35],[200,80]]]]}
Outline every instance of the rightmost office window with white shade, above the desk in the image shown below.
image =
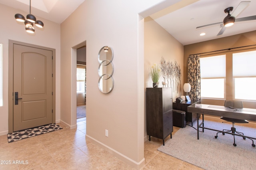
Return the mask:
{"type": "Polygon", "coordinates": [[[233,53],[234,99],[256,100],[256,51],[233,53]]]}

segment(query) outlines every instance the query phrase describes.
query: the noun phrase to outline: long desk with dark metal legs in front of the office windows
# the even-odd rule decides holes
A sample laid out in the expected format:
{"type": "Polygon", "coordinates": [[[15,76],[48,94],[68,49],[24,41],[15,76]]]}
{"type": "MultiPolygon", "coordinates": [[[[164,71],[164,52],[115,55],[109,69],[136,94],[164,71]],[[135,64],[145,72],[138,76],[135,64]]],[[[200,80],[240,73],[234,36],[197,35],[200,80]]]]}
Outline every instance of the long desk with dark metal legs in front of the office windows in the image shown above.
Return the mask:
{"type": "MultiPolygon", "coordinates": [[[[217,105],[204,105],[201,104],[201,107],[196,107],[195,104],[188,106],[188,112],[196,113],[196,119],[197,119],[197,139],[199,139],[199,128],[208,129],[208,130],[214,130],[217,132],[224,132],[221,130],[211,129],[204,127],[204,114],[206,115],[212,115],[212,116],[223,116],[223,117],[229,117],[229,118],[235,118],[235,119],[246,119],[248,121],[256,121],[256,109],[248,109],[248,108],[242,108],[242,109],[228,109],[224,106],[217,106],[217,105]],[[202,114],[202,123],[199,124],[199,115],[202,114]]],[[[230,132],[224,132],[228,134],[233,134],[230,132]]],[[[236,136],[242,136],[240,134],[233,134],[236,136]]],[[[245,136],[248,138],[256,139],[250,136],[245,136]]]]}

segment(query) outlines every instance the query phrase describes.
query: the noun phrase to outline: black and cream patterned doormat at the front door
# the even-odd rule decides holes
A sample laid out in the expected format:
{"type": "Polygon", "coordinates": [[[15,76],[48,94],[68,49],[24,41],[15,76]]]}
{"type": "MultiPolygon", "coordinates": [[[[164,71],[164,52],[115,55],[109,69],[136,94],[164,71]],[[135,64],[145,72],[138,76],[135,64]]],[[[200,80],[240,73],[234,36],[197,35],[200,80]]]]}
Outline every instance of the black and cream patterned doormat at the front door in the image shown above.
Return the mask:
{"type": "Polygon", "coordinates": [[[44,125],[44,126],[40,126],[40,127],[28,128],[25,130],[19,130],[16,132],[12,132],[12,133],[7,134],[7,138],[8,138],[8,142],[10,143],[10,142],[15,142],[15,141],[18,141],[21,139],[26,139],[26,138],[30,138],[33,136],[37,136],[40,134],[52,132],[55,130],[60,130],[60,129],[62,129],[62,127],[60,127],[60,125],[53,123],[53,124],[44,125]]]}

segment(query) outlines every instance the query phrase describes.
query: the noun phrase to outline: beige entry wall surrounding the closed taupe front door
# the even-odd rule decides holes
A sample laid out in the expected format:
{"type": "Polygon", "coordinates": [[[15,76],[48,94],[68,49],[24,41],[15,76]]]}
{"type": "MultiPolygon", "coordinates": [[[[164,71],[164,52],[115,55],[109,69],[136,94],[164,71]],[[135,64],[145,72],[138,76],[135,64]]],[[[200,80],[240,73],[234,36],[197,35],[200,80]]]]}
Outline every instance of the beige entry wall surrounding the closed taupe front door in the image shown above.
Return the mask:
{"type": "Polygon", "coordinates": [[[8,41],[15,40],[56,49],[56,121],[60,121],[60,24],[37,17],[44,28],[35,28],[34,34],[25,31],[24,23],[16,22],[14,15],[23,12],[0,4],[0,42],[3,43],[3,106],[0,107],[0,135],[8,133],[8,41]],[[3,24],[5,23],[5,24],[3,24]]]}

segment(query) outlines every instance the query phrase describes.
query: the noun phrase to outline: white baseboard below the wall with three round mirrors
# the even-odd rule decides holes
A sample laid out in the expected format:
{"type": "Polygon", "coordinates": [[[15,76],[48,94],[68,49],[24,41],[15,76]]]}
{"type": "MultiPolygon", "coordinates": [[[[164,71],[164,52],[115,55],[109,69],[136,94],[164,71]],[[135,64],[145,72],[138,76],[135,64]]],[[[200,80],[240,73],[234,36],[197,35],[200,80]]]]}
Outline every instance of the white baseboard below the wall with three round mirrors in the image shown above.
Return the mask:
{"type": "Polygon", "coordinates": [[[109,146],[103,144],[102,142],[92,138],[91,136],[89,136],[88,134],[86,134],[86,139],[90,140],[91,142],[93,142],[94,144],[100,146],[101,148],[103,148],[104,150],[107,150],[108,152],[110,152],[112,155],[116,156],[117,158],[119,158],[120,160],[126,162],[127,164],[129,164],[130,166],[136,168],[136,169],[140,169],[144,166],[145,164],[145,158],[143,158],[140,162],[136,162],[134,160],[132,160],[131,158],[128,158],[127,156],[125,156],[124,154],[114,150],[113,148],[110,148],[109,146]]]}

